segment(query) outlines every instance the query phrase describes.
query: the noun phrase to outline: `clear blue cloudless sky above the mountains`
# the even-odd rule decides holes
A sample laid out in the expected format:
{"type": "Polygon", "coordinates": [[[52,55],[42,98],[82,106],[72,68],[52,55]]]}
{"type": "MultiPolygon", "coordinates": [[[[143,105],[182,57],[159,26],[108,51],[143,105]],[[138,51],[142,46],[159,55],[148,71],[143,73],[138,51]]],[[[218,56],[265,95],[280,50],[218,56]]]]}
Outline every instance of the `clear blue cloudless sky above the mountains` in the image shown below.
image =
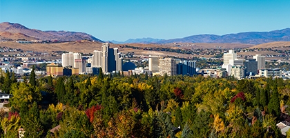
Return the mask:
{"type": "Polygon", "coordinates": [[[0,0],[0,22],[104,41],[280,30],[289,17],[289,0],[0,0]]]}

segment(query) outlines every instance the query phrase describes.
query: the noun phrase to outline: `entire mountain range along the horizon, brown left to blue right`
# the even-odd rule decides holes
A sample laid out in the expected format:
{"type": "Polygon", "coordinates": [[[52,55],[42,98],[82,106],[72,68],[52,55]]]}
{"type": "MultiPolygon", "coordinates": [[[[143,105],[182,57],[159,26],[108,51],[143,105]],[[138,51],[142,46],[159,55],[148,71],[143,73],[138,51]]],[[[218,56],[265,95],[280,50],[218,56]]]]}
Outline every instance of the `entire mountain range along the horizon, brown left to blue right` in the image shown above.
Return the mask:
{"type": "MultiPolygon", "coordinates": [[[[26,28],[19,23],[0,23],[0,40],[49,40],[49,41],[101,41],[84,32],[42,31],[26,28]]],[[[247,43],[260,44],[273,41],[290,41],[290,28],[270,32],[240,32],[237,34],[199,34],[178,39],[128,39],[127,41],[110,41],[111,43],[247,43]]]]}

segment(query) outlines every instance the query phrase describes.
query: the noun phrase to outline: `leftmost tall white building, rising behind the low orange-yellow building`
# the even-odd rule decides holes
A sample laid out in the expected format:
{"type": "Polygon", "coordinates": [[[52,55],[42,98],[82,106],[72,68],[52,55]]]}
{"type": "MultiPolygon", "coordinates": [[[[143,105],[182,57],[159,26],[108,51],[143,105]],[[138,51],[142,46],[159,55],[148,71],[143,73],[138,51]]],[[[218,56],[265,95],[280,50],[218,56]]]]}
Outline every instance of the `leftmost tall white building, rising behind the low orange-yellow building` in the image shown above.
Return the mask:
{"type": "Polygon", "coordinates": [[[63,53],[61,55],[61,64],[63,67],[72,66],[74,68],[75,59],[81,59],[81,54],[79,53],[63,53]]]}

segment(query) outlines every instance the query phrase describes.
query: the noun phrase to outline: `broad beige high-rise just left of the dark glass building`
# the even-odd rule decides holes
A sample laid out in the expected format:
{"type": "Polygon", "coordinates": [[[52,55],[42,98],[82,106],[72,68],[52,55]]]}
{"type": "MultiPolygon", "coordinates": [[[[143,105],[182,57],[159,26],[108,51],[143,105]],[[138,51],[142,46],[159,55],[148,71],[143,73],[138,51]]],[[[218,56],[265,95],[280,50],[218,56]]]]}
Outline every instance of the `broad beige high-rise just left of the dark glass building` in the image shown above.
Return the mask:
{"type": "Polygon", "coordinates": [[[176,62],[173,58],[159,59],[160,75],[176,75],[176,62]]]}

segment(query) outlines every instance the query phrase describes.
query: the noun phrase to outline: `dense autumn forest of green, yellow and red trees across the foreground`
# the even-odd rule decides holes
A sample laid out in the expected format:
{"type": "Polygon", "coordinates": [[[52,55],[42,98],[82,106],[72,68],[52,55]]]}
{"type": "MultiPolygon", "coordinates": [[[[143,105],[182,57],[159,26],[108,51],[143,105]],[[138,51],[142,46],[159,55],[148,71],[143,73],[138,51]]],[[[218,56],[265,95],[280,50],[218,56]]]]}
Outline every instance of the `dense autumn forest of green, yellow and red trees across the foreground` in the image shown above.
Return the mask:
{"type": "Polygon", "coordinates": [[[0,77],[13,95],[1,137],[284,137],[276,124],[290,121],[289,80],[33,72],[0,77]]]}

